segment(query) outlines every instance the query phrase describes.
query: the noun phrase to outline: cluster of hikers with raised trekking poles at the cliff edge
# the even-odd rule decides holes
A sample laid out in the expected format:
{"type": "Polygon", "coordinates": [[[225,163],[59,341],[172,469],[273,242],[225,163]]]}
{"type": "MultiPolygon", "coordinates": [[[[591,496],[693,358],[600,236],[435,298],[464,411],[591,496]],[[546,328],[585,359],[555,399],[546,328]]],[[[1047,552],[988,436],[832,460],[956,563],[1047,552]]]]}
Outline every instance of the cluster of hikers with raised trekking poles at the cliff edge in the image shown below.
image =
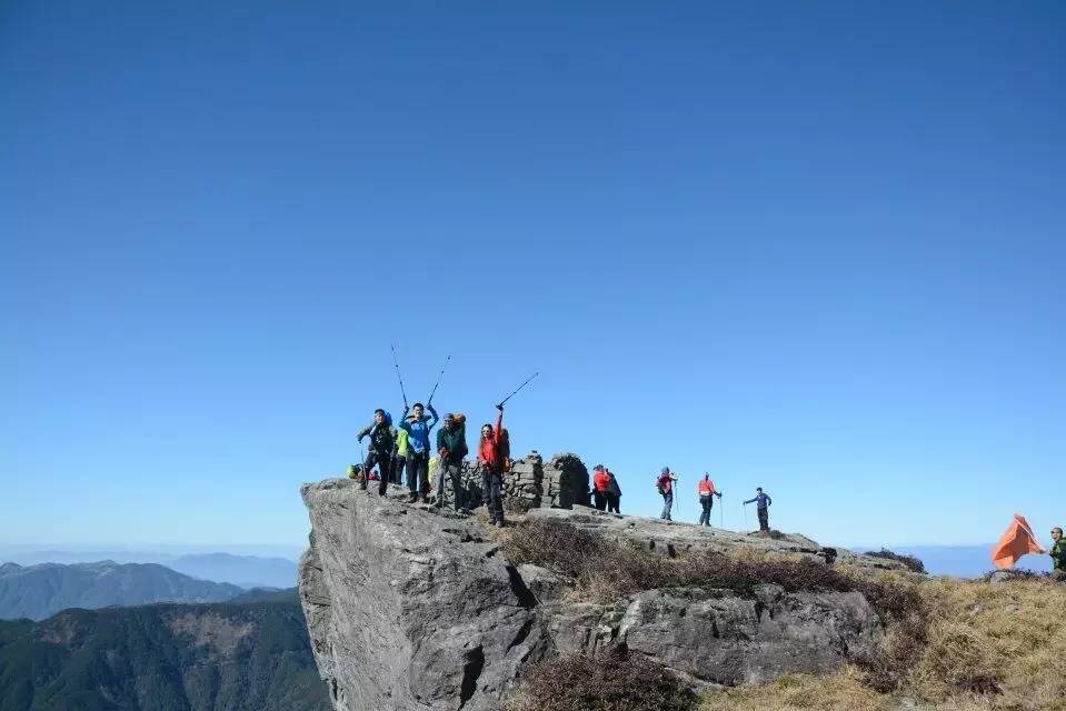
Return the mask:
{"type": "MultiPolygon", "coordinates": [[[[481,427],[481,440],[478,444],[478,462],[481,465],[481,495],[488,508],[492,523],[504,525],[502,477],[509,461],[510,448],[507,430],[504,429],[504,405],[499,411],[496,425],[481,427]]],[[[382,409],[373,411],[373,422],[359,431],[358,439],[370,438],[370,445],[361,470],[349,468],[349,475],[360,480],[366,489],[372,479],[375,467],[378,470],[378,493],[385,495],[389,483],[400,484],[401,474],[407,471],[407,487],[411,503],[422,500],[429,502],[429,470],[431,450],[430,431],[440,421],[432,403],[422,405],[416,402],[404,408],[399,427],[392,423],[391,415],[382,409]],[[427,414],[428,410],[428,414],[427,414]]],[[[457,511],[466,510],[460,470],[467,449],[466,417],[445,414],[441,428],[437,431],[437,460],[435,489],[437,504],[444,505],[445,478],[451,482],[452,504],[457,511]]]]}

